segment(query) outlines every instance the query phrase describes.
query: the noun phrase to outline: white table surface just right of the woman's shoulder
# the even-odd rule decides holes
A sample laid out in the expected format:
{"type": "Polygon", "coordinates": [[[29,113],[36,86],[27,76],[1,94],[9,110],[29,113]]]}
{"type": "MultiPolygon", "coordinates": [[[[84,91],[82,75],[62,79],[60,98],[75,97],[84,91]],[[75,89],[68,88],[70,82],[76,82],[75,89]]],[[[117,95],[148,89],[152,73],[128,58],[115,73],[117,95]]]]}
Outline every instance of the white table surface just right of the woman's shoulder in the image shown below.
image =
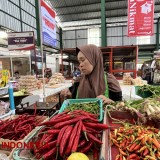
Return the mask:
{"type": "Polygon", "coordinates": [[[119,84],[122,89],[122,96],[124,100],[142,99],[142,97],[136,95],[134,85],[124,85],[122,80],[119,80],[119,84]]]}

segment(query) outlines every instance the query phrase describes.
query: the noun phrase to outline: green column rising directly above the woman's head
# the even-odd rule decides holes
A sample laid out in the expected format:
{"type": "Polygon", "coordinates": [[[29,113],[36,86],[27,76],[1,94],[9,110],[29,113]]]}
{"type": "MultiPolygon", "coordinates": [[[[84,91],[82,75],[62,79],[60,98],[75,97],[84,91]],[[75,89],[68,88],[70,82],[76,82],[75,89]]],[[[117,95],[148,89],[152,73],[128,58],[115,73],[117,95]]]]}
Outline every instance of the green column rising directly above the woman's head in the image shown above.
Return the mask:
{"type": "Polygon", "coordinates": [[[101,0],[101,46],[107,46],[106,41],[106,9],[105,0],[101,0]]]}

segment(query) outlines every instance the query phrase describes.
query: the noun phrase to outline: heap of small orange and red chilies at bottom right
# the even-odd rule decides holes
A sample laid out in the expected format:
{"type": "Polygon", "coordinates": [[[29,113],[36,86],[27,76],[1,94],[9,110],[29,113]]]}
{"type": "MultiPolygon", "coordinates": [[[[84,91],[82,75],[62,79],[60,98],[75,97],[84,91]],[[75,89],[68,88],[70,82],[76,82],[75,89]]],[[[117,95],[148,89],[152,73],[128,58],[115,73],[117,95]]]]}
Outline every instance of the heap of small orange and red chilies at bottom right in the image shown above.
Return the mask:
{"type": "Polygon", "coordinates": [[[110,139],[119,149],[116,160],[160,159],[160,132],[156,128],[126,125],[113,130],[110,139]]]}

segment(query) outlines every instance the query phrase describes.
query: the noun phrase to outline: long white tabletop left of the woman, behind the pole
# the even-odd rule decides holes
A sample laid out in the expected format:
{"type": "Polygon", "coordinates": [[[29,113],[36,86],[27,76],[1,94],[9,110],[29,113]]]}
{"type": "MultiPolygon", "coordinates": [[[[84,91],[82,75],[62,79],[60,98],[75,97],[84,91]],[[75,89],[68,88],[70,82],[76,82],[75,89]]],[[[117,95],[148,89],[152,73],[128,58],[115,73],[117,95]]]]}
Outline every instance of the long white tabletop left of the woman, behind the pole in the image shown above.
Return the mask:
{"type": "Polygon", "coordinates": [[[39,102],[43,102],[44,98],[51,96],[51,95],[56,95],[59,94],[63,89],[67,89],[72,86],[72,83],[70,80],[65,81],[65,83],[59,84],[58,88],[49,88],[45,86],[45,95],[43,94],[43,89],[38,89],[35,91],[31,91],[30,93],[33,95],[39,95],[39,102]]]}

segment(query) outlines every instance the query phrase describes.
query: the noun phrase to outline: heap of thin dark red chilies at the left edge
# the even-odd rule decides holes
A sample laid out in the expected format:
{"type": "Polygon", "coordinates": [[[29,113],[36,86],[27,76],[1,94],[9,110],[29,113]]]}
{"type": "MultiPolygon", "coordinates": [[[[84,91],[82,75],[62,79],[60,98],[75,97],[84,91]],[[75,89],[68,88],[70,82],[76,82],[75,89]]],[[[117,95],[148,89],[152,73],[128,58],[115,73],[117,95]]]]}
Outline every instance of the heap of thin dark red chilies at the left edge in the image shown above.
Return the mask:
{"type": "Polygon", "coordinates": [[[0,138],[9,140],[21,140],[30,133],[38,124],[44,121],[44,117],[23,114],[17,118],[0,121],[0,138]]]}

